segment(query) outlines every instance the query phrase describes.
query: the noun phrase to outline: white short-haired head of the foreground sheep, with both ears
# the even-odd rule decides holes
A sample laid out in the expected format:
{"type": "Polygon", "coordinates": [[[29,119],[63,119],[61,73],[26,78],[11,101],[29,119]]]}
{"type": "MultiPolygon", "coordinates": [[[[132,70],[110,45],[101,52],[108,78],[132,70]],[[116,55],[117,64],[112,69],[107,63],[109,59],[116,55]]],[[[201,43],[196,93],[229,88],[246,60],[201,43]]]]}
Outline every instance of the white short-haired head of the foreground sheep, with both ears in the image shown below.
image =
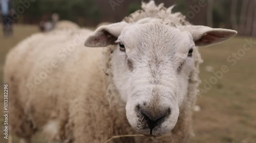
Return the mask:
{"type": "Polygon", "coordinates": [[[148,136],[160,136],[175,127],[195,70],[196,46],[236,35],[232,30],[156,21],[101,26],[85,43],[116,47],[111,59],[114,84],[126,102],[129,123],[148,136]]]}

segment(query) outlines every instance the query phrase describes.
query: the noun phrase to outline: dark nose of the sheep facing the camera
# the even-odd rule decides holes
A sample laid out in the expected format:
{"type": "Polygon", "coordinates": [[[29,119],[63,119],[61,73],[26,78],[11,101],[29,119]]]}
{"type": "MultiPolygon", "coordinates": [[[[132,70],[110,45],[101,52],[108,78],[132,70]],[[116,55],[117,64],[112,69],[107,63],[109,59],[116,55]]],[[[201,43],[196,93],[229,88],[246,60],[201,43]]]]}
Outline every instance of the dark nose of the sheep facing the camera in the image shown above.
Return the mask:
{"type": "Polygon", "coordinates": [[[140,112],[142,114],[142,120],[145,120],[148,127],[153,130],[157,125],[163,123],[166,117],[170,115],[170,108],[168,107],[158,107],[147,109],[144,106],[140,106],[140,112]]]}

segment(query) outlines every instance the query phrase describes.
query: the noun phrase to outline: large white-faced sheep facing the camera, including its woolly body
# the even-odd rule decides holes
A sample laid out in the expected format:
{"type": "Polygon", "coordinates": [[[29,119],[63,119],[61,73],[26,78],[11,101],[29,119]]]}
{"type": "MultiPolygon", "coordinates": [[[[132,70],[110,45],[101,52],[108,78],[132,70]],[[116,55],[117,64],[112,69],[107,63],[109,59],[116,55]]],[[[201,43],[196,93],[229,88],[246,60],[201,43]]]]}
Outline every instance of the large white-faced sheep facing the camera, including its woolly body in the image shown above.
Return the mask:
{"type": "Polygon", "coordinates": [[[191,25],[173,7],[142,3],[123,21],[33,35],[8,54],[11,132],[30,142],[188,142],[202,63],[198,46],[236,31],[191,25]],[[81,39],[86,39],[83,47],[81,39]],[[97,48],[89,48],[97,47],[97,48]]]}

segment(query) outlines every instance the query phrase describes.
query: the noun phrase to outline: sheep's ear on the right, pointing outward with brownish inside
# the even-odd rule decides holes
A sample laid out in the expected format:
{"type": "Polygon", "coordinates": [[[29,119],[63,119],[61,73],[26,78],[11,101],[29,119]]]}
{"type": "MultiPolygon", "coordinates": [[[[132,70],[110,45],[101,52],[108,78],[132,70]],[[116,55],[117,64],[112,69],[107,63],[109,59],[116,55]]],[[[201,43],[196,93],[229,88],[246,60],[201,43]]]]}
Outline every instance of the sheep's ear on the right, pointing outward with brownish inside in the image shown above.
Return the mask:
{"type": "Polygon", "coordinates": [[[237,35],[237,31],[223,28],[211,28],[207,26],[186,25],[181,31],[189,32],[197,46],[208,46],[221,43],[237,35]]]}

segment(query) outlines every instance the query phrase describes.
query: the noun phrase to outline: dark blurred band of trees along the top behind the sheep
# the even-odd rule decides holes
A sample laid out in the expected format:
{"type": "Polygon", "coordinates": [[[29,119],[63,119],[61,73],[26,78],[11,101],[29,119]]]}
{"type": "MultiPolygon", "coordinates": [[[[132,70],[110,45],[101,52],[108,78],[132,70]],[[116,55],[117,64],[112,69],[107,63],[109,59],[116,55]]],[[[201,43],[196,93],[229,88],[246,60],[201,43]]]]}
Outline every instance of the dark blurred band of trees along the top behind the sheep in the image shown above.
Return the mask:
{"type": "MultiPolygon", "coordinates": [[[[12,0],[16,6],[24,7],[25,0],[12,0]]],[[[119,0],[113,0],[121,2],[119,0]]],[[[143,0],[148,2],[150,0],[143,0]]],[[[188,20],[193,24],[209,25],[214,27],[233,28],[239,34],[252,35],[256,31],[256,0],[155,0],[156,4],[164,3],[165,7],[176,5],[173,12],[181,12],[185,16],[193,13],[193,18],[188,20]],[[199,3],[207,3],[200,7],[199,3]],[[197,10],[197,9],[198,10],[197,10]],[[196,10],[196,11],[195,11],[196,10]],[[198,12],[197,12],[198,11],[198,12]]],[[[123,17],[141,9],[141,1],[123,1],[111,8],[109,1],[102,0],[36,0],[25,7],[24,13],[18,13],[19,21],[37,23],[43,15],[51,17],[52,13],[58,13],[60,19],[67,19],[80,24],[96,25],[101,21],[118,22],[123,17]],[[24,20],[23,20],[24,19],[24,20]]],[[[16,20],[18,21],[18,20],[16,20]]]]}

